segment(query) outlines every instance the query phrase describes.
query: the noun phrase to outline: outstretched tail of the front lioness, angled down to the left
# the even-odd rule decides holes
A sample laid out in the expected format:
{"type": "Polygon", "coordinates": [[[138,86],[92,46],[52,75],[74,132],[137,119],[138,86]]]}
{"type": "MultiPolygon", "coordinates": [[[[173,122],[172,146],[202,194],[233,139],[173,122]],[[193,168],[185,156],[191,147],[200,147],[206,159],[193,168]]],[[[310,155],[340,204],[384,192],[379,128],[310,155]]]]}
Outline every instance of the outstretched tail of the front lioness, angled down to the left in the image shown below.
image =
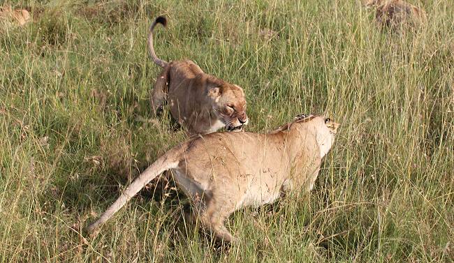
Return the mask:
{"type": "Polygon", "coordinates": [[[126,202],[131,200],[131,197],[136,195],[142,188],[145,187],[147,183],[152,181],[156,176],[161,174],[162,172],[176,168],[178,165],[178,160],[177,158],[174,158],[174,160],[171,160],[172,158],[170,156],[175,153],[175,150],[170,150],[163,156],[161,156],[158,160],[156,160],[152,165],[150,165],[147,170],[142,172],[140,176],[136,180],[131,183],[131,185],[124,190],[124,193],[118,197],[118,199],[113,203],[102,215],[101,217],[96,220],[95,223],[92,223],[87,227],[88,232],[93,232],[98,228],[100,225],[105,223],[109,218],[113,216],[114,213],[116,213],[119,209],[121,209],[126,202]]]}

